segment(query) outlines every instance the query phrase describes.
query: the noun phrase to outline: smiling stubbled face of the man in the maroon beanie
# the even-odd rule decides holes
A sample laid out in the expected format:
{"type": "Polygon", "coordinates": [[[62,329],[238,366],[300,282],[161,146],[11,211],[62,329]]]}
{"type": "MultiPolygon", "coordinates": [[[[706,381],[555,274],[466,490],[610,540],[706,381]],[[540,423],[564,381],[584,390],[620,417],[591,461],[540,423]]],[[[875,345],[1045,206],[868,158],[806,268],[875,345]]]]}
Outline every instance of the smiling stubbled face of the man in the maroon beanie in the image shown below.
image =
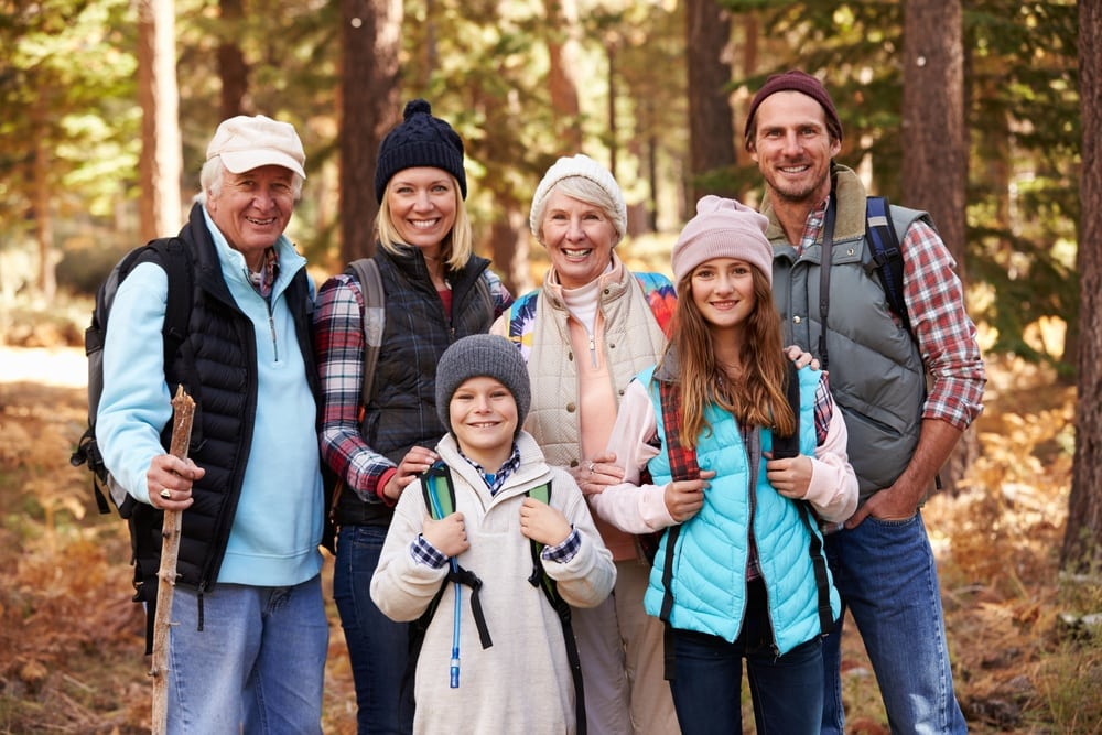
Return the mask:
{"type": "Polygon", "coordinates": [[[778,91],[758,106],[750,158],[770,196],[815,205],[830,193],[830,162],[842,144],[827,130],[827,114],[800,91],[778,91]]]}

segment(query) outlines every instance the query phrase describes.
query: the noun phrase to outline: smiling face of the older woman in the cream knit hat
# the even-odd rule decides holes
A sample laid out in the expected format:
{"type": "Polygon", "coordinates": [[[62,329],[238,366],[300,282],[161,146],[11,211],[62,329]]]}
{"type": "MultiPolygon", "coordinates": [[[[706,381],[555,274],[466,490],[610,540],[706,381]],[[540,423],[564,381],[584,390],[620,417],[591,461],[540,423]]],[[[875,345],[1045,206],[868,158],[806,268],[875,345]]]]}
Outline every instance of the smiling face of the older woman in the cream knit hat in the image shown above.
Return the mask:
{"type": "Polygon", "coordinates": [[[565,289],[581,288],[604,273],[619,240],[606,212],[558,188],[548,196],[541,230],[551,264],[565,289]]]}

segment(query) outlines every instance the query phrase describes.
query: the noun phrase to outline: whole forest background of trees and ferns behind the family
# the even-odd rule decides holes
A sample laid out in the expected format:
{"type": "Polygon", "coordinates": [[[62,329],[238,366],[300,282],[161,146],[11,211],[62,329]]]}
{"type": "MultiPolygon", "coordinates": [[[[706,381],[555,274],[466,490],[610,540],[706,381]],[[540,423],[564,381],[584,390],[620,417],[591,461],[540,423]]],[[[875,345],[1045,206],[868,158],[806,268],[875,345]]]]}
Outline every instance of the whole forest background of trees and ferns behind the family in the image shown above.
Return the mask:
{"type": "MultiPolygon", "coordinates": [[[[378,140],[425,97],[466,143],[479,251],[520,293],[558,155],[614,171],[620,253],[668,272],[699,195],[759,198],[746,107],[800,67],[834,97],[839,161],[933,214],[981,329],[985,412],[926,512],[970,725],[1102,733],[1100,4],[0,0],[0,732],[148,729],[125,530],[67,464],[78,346],[118,257],[179,229],[219,120],[295,125],[289,234],[321,280],[374,249],[378,140]]],[[[855,638],[849,729],[886,732],[855,638]]],[[[350,732],[338,624],[327,675],[326,731],[350,732]]]]}

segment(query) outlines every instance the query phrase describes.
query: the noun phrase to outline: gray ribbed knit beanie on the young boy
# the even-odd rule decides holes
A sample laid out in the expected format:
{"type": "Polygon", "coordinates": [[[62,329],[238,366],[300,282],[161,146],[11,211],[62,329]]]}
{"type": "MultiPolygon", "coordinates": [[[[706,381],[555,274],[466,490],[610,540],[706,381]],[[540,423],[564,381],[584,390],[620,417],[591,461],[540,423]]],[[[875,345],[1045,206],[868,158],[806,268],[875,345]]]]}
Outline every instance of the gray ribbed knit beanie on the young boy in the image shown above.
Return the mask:
{"type": "Polygon", "coordinates": [[[525,425],[532,404],[528,366],[517,346],[496,334],[473,334],[452,343],[436,366],[436,415],[452,431],[449,403],[465,380],[490,377],[509,389],[517,401],[517,432],[525,425]]]}

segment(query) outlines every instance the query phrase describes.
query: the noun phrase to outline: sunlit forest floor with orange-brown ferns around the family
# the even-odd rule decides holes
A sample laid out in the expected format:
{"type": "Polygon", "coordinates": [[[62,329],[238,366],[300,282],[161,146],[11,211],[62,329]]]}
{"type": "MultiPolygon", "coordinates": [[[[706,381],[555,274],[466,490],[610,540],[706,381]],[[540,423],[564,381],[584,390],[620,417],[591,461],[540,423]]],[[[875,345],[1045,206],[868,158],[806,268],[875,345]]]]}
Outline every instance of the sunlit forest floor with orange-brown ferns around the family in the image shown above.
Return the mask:
{"type": "MultiPolygon", "coordinates": [[[[68,463],[85,424],[85,365],[73,348],[0,348],[2,733],[150,727],[144,623],[130,602],[125,523],[98,515],[87,473],[68,463]]],[[[1102,636],[1087,616],[1102,612],[1102,593],[1096,582],[1061,581],[1057,569],[1074,391],[1017,361],[993,360],[990,375],[966,487],[925,511],[958,695],[973,733],[1102,733],[1102,636]]],[[[329,590],[331,569],[329,559],[329,590]]],[[[352,675],[332,603],[331,612],[324,726],[354,733],[352,675]]],[[[886,733],[875,679],[849,629],[847,729],[886,733]]]]}

